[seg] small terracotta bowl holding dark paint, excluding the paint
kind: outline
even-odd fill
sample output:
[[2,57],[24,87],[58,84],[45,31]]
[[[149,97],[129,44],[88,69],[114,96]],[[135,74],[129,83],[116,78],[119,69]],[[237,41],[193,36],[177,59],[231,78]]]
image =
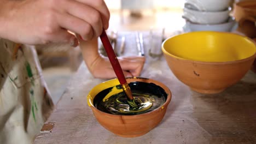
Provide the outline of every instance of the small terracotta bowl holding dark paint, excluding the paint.
[[[104,89],[115,87],[120,85],[117,79],[109,80],[99,85],[95,86],[91,89],[90,93],[88,94],[88,105],[91,107],[94,116],[96,117],[97,121],[107,130],[111,131],[114,134],[123,137],[136,137],[141,136],[148,133],[150,130],[155,128],[162,120],[166,113],[166,109],[168,104],[171,101],[171,91],[161,82],[152,80],[152,79],[145,79],[141,77],[132,77],[126,78],[127,82],[146,82],[146,83],[154,83],[157,86],[160,86],[164,91],[166,97],[165,103],[158,107],[157,109],[142,113],[138,115],[113,115],[103,111],[96,109],[94,105],[94,98],[95,96],[103,91]],[[155,89],[152,87],[144,87],[146,89],[152,89],[152,91],[159,91],[159,89]],[[110,95],[117,94],[123,91],[122,89],[112,89],[109,93]],[[133,89],[131,89],[133,91]],[[147,90],[148,91],[148,90]]]

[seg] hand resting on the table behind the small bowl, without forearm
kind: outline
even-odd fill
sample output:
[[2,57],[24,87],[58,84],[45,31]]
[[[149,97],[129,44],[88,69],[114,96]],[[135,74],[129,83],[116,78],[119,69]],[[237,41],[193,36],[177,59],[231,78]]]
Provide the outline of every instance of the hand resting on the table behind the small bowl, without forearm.
[[[123,69],[125,77],[139,76],[145,63],[145,57],[119,57],[118,61]],[[95,61],[88,64],[88,68],[91,74],[96,78],[112,79],[117,77],[107,57],[96,57]]]

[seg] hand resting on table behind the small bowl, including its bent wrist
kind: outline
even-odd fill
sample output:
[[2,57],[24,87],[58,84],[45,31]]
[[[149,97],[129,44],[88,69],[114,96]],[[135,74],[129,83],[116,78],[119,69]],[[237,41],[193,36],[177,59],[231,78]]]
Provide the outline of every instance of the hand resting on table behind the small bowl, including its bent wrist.
[[[98,53],[96,38],[90,41],[79,39],[79,42],[85,64],[94,77],[101,79],[117,77],[108,57],[103,57]],[[142,56],[119,57],[118,60],[126,77],[139,76],[145,63],[145,57]]]

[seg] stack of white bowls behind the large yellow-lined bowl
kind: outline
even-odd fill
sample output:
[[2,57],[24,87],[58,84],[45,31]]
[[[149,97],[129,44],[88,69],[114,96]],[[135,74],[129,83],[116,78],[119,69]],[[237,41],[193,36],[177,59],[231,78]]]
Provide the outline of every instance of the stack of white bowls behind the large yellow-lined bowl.
[[236,22],[230,17],[230,4],[231,0],[186,0],[184,31],[232,31]]

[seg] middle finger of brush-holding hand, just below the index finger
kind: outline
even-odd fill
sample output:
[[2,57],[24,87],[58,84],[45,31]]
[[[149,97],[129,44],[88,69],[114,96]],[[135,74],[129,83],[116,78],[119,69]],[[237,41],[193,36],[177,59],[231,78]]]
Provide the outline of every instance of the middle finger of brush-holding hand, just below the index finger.
[[94,29],[93,37],[100,36],[103,26],[99,11],[77,1],[70,1],[66,9],[69,14],[88,22],[92,26]]

